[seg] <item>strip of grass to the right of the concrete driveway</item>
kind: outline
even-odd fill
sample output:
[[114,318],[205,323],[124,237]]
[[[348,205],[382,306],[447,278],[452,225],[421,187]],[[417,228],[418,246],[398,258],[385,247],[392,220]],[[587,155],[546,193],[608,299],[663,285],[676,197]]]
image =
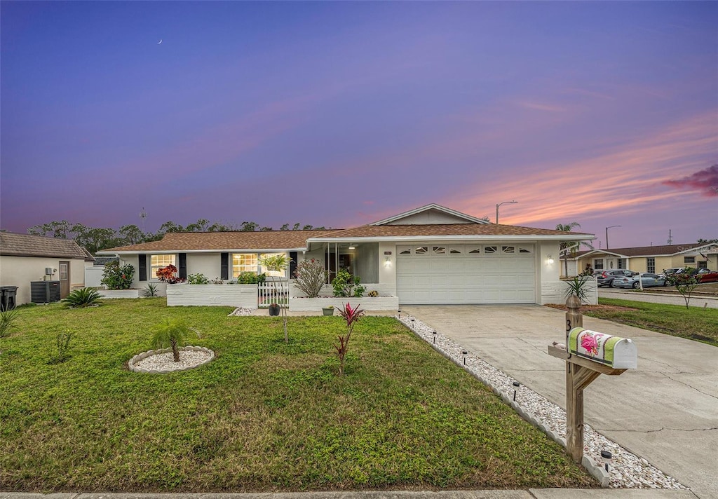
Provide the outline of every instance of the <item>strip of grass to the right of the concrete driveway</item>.
[[631,302],[622,299],[600,298],[599,304],[612,305],[602,309],[582,309],[584,315],[612,320],[621,324],[642,327],[689,340],[718,346],[718,309]]

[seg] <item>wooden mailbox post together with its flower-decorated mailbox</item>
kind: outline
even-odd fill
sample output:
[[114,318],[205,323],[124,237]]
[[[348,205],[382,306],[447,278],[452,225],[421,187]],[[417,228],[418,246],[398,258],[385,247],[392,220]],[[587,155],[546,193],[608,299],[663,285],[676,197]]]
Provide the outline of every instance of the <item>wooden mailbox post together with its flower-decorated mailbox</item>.
[[618,376],[638,366],[635,343],[574,327],[564,348],[549,345],[549,355],[566,361],[566,450],[580,463],[584,447],[583,392],[602,374]]

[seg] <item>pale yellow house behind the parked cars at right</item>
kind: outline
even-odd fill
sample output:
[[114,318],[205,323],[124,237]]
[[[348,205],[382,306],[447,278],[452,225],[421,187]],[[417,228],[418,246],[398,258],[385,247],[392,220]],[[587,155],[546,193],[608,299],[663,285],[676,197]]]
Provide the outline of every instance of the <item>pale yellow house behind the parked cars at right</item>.
[[[571,266],[573,264],[573,267]],[[628,269],[660,274],[672,267],[718,269],[718,244],[669,244],[638,248],[612,248],[580,251],[569,257],[569,269],[583,270],[589,264],[594,270]]]

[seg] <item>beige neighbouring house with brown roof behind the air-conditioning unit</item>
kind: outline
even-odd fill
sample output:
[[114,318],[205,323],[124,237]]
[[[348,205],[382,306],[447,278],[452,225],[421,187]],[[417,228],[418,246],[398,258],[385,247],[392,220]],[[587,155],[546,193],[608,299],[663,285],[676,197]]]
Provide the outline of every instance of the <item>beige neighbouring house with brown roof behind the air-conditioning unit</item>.
[[31,281],[60,281],[60,297],[67,297],[85,286],[85,266],[93,261],[71,239],[0,232],[0,285],[17,286],[19,305],[30,302]]

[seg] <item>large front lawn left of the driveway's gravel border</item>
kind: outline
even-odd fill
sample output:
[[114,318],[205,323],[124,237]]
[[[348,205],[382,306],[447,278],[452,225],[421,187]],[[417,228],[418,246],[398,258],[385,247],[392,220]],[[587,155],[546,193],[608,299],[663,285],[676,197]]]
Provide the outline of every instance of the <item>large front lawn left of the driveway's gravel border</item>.
[[[21,307],[0,343],[0,490],[223,492],[595,487],[564,450],[390,317],[365,317],[346,374],[340,317],[226,317],[164,299]],[[149,326],[215,350],[131,373]],[[70,358],[51,363],[58,333]]]

